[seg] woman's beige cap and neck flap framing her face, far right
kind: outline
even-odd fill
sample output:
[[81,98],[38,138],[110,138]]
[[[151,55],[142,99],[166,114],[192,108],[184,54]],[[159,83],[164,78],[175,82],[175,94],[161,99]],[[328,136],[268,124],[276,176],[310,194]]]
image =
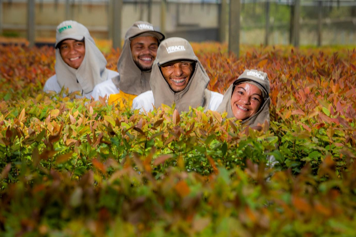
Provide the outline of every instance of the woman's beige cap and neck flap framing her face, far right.
[[234,92],[235,86],[240,83],[250,83],[256,85],[262,91],[263,104],[260,107],[260,110],[256,114],[242,121],[245,125],[250,125],[251,127],[256,126],[258,123],[262,124],[267,120],[269,124],[269,80],[267,73],[258,71],[258,70],[249,70],[246,69],[235,81],[232,83],[229,88],[225,91],[223,101],[219,105],[218,112],[227,112],[227,118],[234,118],[234,114],[231,109],[231,96]]

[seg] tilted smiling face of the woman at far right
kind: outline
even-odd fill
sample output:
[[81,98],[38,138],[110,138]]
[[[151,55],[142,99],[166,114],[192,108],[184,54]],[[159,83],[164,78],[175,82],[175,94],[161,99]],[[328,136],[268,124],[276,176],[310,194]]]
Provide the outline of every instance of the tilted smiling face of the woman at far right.
[[256,114],[262,103],[262,91],[255,85],[236,85],[231,96],[232,113],[237,119],[245,120]]

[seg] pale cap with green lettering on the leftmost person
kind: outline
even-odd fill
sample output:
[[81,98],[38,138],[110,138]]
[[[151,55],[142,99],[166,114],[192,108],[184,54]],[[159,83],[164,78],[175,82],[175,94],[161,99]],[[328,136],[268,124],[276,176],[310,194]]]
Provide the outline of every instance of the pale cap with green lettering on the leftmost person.
[[86,35],[90,35],[87,27],[76,21],[63,21],[57,26],[56,44],[54,47],[57,48],[58,43],[64,39],[83,40]]

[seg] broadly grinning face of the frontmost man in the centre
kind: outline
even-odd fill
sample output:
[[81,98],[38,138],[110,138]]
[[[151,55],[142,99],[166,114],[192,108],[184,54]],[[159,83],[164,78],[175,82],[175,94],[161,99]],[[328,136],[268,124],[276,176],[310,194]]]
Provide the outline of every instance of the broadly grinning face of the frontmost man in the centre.
[[171,62],[162,66],[161,72],[171,90],[179,92],[187,87],[190,77],[192,77],[193,63]]

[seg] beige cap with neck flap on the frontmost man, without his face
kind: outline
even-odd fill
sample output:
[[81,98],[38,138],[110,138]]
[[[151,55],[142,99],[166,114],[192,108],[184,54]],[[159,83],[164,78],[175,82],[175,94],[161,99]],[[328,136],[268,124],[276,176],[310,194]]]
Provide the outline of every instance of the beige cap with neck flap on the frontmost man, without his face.
[[[187,87],[174,93],[164,79],[159,65],[180,59],[195,61],[196,65]],[[181,112],[188,111],[189,106],[192,106],[192,108],[206,106],[209,103],[207,98],[210,99],[210,93],[207,93],[208,90],[206,89],[209,81],[208,74],[206,74],[203,65],[195,56],[192,46],[186,39],[172,37],[162,41],[158,47],[156,60],[153,62],[150,80],[155,107],[159,107],[161,104],[171,106],[175,102],[176,109]]]

